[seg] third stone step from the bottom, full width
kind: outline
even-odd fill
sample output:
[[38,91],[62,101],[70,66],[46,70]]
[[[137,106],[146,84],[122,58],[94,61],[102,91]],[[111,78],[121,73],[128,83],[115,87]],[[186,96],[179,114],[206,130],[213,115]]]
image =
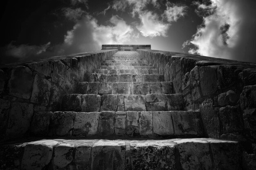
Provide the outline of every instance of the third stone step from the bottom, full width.
[[170,111],[183,110],[181,94],[148,95],[81,95],[65,94],[62,97],[62,111]]

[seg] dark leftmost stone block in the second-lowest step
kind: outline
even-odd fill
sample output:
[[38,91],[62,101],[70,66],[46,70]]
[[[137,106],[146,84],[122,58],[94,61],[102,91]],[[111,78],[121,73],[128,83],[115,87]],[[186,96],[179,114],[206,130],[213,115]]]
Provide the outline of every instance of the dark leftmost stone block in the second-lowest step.
[[52,115],[52,112],[34,112],[30,132],[33,135],[47,135]]

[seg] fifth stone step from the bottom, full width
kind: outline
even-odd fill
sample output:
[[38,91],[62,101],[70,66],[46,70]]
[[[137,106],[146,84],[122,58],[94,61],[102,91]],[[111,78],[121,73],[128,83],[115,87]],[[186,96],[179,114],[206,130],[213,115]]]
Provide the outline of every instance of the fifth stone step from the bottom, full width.
[[91,73],[86,82],[164,82],[163,74],[100,74]]

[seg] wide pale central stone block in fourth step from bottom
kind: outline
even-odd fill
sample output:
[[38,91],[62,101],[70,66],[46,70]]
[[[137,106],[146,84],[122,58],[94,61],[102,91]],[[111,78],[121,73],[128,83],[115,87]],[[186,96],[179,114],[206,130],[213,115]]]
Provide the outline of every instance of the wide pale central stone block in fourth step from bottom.
[[131,83],[117,82],[113,83],[112,94],[114,95],[130,95]]

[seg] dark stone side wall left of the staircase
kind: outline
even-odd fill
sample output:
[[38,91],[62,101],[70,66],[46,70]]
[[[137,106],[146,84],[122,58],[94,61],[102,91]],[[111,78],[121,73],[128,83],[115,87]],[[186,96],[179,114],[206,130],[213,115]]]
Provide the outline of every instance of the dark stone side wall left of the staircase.
[[0,66],[0,136],[25,135],[34,113],[58,111],[62,95],[74,93],[101,62],[118,50],[56,56]]

